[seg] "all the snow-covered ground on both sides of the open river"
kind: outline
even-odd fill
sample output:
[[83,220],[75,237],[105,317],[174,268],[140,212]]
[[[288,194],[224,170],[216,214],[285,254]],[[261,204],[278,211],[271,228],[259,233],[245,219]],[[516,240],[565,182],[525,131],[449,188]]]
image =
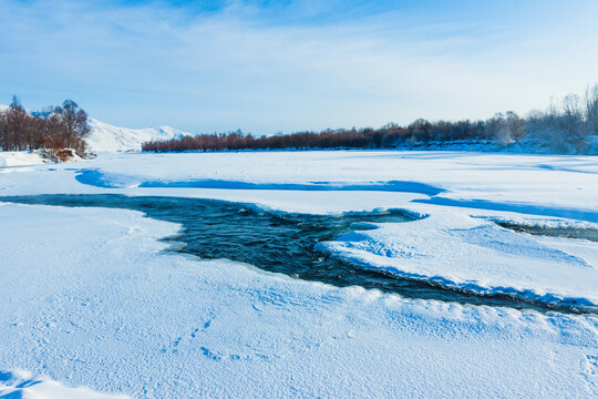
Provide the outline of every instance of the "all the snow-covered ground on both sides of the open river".
[[[348,233],[319,249],[446,287],[598,306],[597,242],[495,223],[597,228],[591,156],[17,157],[0,164],[1,196],[203,197],[320,214],[406,209],[422,218]],[[3,203],[0,221],[0,397],[85,397],[87,389],[152,398],[598,395],[596,315],[412,300],[200,260],[164,250],[159,238],[179,225],[133,211]]]

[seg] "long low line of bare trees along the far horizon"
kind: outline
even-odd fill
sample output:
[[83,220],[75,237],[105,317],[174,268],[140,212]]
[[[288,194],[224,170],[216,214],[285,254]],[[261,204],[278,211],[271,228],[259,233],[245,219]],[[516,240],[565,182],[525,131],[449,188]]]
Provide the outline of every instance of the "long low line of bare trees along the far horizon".
[[406,126],[389,123],[380,129],[338,129],[254,136],[240,130],[198,134],[171,141],[144,143],[142,151],[234,151],[290,149],[395,149],[417,144],[484,142],[512,145],[523,141],[558,152],[585,152],[591,135],[598,135],[598,84],[585,95],[567,95],[560,105],[530,112],[526,117],[508,111],[485,121],[426,121]]

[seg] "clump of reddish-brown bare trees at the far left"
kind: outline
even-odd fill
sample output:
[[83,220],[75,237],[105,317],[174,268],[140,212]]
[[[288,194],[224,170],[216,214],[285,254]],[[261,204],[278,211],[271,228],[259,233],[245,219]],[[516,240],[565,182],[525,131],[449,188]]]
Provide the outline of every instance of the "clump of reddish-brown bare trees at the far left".
[[87,114],[72,100],[29,113],[13,96],[10,108],[0,111],[2,151],[73,149],[83,153],[89,133]]

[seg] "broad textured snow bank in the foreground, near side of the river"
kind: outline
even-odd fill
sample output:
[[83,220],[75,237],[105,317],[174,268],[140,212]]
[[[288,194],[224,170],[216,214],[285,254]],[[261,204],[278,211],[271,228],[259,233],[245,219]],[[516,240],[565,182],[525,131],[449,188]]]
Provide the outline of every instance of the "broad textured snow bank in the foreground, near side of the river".
[[595,317],[168,255],[156,238],[179,226],[136,212],[6,204],[0,219],[0,370],[148,398],[598,393]]

